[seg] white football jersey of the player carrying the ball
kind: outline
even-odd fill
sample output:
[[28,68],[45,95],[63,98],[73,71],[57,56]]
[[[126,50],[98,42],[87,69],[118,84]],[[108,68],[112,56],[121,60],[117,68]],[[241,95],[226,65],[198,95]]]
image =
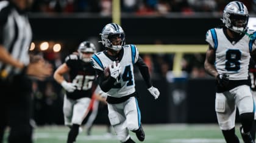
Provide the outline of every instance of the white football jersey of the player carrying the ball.
[[[138,60],[138,49],[135,45],[124,45],[123,48],[124,55],[121,61],[119,61],[121,66],[119,80],[107,92],[108,96],[115,98],[121,98],[135,92],[133,64]],[[104,71],[105,67],[113,63],[103,52],[94,54],[91,59],[93,67],[101,71]]]

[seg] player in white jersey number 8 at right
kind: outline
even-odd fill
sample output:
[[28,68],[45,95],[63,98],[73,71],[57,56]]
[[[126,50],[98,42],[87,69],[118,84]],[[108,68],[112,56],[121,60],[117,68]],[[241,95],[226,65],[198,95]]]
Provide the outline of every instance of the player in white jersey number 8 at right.
[[256,58],[256,33],[247,29],[248,18],[242,2],[229,2],[223,12],[224,26],[212,28],[206,34],[209,48],[204,66],[216,78],[215,111],[227,143],[239,142],[235,135],[236,107],[240,113],[243,141],[254,142],[249,132],[254,121],[254,101],[248,67],[251,56]]

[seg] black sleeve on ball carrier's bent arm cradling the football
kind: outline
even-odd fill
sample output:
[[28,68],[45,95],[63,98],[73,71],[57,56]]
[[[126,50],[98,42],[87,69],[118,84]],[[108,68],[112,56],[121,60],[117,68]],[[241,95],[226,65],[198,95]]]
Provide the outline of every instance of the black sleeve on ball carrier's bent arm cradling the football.
[[104,71],[98,69],[96,69],[96,73],[98,75],[97,79],[99,87],[101,87],[101,90],[104,92],[109,91],[113,87],[113,84],[115,83],[116,79],[112,78],[112,76],[105,78]]

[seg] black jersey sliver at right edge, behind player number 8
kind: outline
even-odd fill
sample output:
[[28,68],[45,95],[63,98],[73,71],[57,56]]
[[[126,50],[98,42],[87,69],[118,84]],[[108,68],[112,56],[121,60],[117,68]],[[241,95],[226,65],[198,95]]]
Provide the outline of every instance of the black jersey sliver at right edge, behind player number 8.
[[256,91],[256,62],[252,59],[249,64],[249,77],[251,79],[251,88]]

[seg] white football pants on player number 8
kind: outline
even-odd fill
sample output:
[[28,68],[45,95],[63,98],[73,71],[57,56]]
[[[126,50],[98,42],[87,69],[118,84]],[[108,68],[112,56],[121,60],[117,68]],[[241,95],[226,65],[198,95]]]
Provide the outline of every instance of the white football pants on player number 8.
[[216,93],[215,111],[221,130],[235,127],[236,107],[240,115],[254,111],[254,101],[248,85],[241,85],[224,93]]

